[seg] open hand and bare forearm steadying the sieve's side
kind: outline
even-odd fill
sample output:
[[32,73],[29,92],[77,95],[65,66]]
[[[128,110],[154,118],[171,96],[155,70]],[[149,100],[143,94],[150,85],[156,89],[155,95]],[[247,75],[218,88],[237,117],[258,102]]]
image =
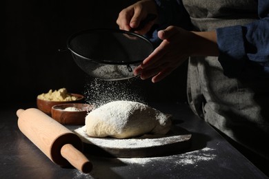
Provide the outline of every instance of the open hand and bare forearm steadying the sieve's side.
[[134,74],[140,74],[141,79],[153,76],[153,83],[168,76],[188,56],[219,54],[215,32],[190,32],[169,26],[166,30],[160,30],[158,36],[162,43],[134,70]]

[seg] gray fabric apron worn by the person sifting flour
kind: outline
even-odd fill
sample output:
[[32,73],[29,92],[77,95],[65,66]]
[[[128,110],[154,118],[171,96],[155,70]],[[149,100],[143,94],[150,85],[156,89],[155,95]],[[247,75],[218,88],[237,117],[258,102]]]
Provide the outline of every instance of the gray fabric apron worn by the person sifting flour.
[[[257,19],[255,0],[182,0],[195,30],[209,31]],[[221,17],[221,18],[218,18]],[[251,66],[250,66],[251,69]],[[242,72],[223,75],[217,57],[190,58],[188,101],[192,111],[238,143],[269,159],[269,81]]]

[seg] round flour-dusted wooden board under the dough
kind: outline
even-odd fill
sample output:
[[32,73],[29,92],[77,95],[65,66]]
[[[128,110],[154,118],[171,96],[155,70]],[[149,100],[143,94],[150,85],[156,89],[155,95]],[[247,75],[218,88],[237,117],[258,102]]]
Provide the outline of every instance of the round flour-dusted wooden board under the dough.
[[74,129],[83,141],[84,152],[98,156],[121,158],[166,156],[179,154],[191,145],[192,134],[182,127],[172,127],[166,135],[143,135],[139,138],[92,138],[85,127]]

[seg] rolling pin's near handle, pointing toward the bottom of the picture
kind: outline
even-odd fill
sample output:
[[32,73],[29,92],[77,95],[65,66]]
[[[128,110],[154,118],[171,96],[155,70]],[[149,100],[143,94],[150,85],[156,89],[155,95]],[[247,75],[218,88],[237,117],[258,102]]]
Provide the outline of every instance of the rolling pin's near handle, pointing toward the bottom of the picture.
[[66,158],[73,167],[83,173],[90,173],[90,171],[92,171],[92,162],[71,144],[66,144],[61,147],[61,156]]

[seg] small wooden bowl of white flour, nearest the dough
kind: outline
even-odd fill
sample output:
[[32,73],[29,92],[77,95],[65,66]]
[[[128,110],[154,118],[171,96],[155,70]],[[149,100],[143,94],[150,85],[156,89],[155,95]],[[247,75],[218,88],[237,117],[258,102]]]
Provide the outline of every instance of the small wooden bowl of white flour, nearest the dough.
[[[72,107],[77,109],[68,109]],[[52,106],[52,118],[63,125],[85,125],[85,118],[88,112],[93,109],[92,105],[83,103],[66,103]]]

